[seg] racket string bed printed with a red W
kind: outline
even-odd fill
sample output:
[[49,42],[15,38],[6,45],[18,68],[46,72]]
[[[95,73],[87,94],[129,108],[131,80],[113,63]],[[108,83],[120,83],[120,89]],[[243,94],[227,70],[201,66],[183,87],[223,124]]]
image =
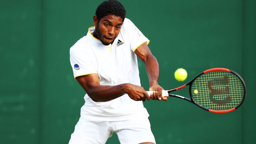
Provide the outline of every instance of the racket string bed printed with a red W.
[[[194,91],[197,90],[197,93]],[[233,73],[212,71],[199,76],[191,85],[193,100],[211,110],[230,110],[243,100],[243,83]]]

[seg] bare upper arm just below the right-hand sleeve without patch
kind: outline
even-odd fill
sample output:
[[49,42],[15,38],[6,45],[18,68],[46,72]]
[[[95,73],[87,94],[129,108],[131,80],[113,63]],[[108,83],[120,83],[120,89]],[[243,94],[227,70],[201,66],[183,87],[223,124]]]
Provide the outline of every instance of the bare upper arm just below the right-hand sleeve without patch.
[[147,58],[152,55],[147,42],[141,44],[134,53],[143,61],[147,61]]

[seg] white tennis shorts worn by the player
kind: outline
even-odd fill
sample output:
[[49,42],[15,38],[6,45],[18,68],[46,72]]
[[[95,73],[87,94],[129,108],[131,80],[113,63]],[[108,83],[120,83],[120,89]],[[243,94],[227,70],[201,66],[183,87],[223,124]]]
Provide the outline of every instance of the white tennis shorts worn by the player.
[[155,142],[147,117],[126,121],[94,121],[80,119],[69,144],[105,144],[115,132],[121,144]]

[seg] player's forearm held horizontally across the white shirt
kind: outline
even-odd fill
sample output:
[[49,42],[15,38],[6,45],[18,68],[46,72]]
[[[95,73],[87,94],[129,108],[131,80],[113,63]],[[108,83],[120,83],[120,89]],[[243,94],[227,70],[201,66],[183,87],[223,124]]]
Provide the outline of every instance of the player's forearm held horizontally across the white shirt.
[[97,85],[87,92],[89,97],[95,102],[106,102],[116,99],[128,92],[129,84],[116,86]]

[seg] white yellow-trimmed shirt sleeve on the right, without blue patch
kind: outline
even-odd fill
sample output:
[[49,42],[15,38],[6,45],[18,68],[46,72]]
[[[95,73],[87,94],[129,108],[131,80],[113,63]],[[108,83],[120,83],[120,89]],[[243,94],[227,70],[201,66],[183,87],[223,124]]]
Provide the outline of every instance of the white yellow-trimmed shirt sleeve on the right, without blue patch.
[[131,50],[134,52],[140,45],[147,42],[150,42],[148,38],[146,38],[142,32],[133,24],[133,22],[127,18],[125,18],[124,24],[124,32],[129,40]]

